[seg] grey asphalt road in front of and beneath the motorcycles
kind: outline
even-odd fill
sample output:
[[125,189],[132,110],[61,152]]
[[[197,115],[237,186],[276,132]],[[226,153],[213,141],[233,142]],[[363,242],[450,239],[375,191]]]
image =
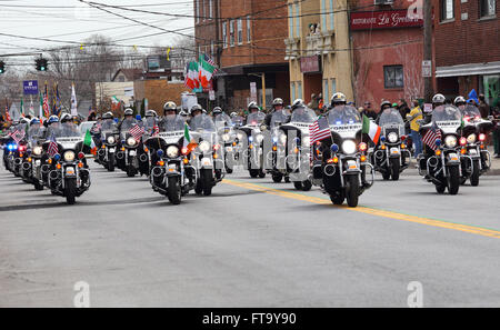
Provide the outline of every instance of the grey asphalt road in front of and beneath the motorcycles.
[[67,206],[0,169],[0,307],[500,307],[500,177],[438,196],[414,170],[357,209],[318,188],[228,176],[171,206],[92,164]]

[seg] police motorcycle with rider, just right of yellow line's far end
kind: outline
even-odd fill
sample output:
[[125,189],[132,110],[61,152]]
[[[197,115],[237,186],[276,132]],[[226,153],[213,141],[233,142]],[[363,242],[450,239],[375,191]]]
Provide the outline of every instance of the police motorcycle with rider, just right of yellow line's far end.
[[241,156],[247,164],[251,178],[264,178],[263,131],[267,130],[263,121],[266,114],[259,110],[256,102],[249,104],[249,111],[257,110],[247,116],[247,122],[237,133],[241,142]]

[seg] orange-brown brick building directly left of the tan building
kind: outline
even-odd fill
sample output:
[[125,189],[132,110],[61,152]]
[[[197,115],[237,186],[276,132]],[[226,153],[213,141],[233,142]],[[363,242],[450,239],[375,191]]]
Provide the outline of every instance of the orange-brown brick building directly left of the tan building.
[[[273,98],[289,99],[289,70],[284,60],[287,0],[194,0],[194,31],[199,53],[211,54],[220,71],[213,80],[218,103],[246,108],[250,100],[266,106]],[[256,82],[257,94],[250,94]],[[203,103],[203,96],[199,94]],[[204,94],[204,106],[207,94]]]

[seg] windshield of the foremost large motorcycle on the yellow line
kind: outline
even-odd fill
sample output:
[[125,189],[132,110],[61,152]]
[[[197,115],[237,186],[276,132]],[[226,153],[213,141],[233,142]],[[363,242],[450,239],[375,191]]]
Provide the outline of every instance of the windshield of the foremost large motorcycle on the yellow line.
[[337,106],[327,114],[330,129],[341,138],[354,138],[356,133],[361,130],[361,116],[354,107]]

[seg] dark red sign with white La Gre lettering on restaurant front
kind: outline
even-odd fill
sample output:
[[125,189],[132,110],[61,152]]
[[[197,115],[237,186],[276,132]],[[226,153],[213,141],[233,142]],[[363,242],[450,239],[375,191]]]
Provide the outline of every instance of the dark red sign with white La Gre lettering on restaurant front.
[[403,10],[358,11],[351,12],[351,30],[416,28],[423,26],[423,19]]

